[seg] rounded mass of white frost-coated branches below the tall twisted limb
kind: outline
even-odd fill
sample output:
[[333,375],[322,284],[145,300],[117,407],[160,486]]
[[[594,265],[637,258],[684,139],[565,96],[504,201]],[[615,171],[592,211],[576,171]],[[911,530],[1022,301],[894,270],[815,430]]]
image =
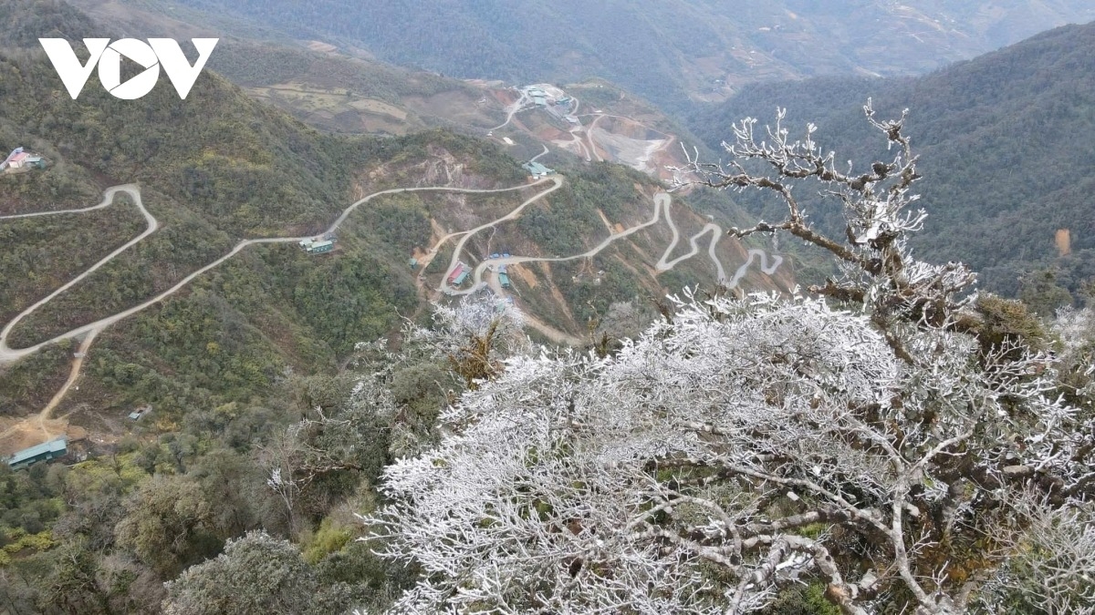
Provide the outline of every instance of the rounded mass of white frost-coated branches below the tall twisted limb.
[[512,359],[445,417],[456,436],[385,473],[380,533],[426,571],[399,608],[748,612],[819,575],[849,612],[899,587],[960,612],[970,564],[923,552],[1011,527],[977,509],[1006,504],[1015,468],[1071,477],[1071,411],[1040,357],[979,370],[937,329],[908,346],[931,360],[821,300],[756,295],[685,300],[614,359]]

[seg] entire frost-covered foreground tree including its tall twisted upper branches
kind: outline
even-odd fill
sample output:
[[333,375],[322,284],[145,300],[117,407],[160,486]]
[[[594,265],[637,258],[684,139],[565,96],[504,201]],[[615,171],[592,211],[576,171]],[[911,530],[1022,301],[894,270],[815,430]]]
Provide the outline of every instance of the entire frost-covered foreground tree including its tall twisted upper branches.
[[[791,233],[839,277],[685,292],[614,357],[518,353],[385,471],[367,521],[423,570],[396,612],[747,613],[806,584],[849,614],[1095,607],[1093,413],[1056,357],[982,335],[968,269],[909,253],[917,160],[866,112],[896,152],[864,172],[812,128],[758,142],[749,119],[736,162],[690,169],[779,195],[785,220],[733,232]],[[809,224],[806,181],[843,202],[845,237]]]

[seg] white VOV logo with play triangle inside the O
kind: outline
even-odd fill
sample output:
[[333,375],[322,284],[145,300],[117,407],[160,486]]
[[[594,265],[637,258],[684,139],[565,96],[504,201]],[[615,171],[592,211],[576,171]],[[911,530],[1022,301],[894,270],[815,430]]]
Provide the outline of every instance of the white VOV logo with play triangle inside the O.
[[[198,59],[194,66],[191,66],[189,60],[183,55],[183,49],[173,38],[149,38],[148,43],[136,38],[122,38],[114,43],[111,43],[110,38],[84,38],[83,44],[91,54],[87,65],[80,63],[72,46],[64,38],[39,38],[38,43],[42,43],[42,48],[46,50],[57,76],[61,78],[73,101],[88,83],[96,63],[99,80],[116,98],[134,101],[151,92],[160,79],[162,66],[168,72],[171,84],[178,92],[178,97],[185,101],[218,40],[220,38],[191,39],[198,50]],[[140,74],[125,83],[122,83],[122,56],[145,67]]]

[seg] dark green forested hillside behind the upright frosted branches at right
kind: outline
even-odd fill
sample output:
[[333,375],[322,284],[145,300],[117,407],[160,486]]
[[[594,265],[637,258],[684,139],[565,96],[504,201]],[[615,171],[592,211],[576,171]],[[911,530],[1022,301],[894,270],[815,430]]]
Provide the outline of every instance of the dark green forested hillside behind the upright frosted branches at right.
[[[913,245],[934,260],[963,260],[982,288],[1019,292],[1025,272],[1051,268],[1049,286],[1079,291],[1095,277],[1095,24],[1061,27],[1001,51],[914,79],[818,79],[746,89],[699,113],[692,127],[717,147],[745,117],[787,108],[784,126],[840,151],[864,142],[862,105],[880,116],[909,109],[922,152],[925,232]],[[799,195],[803,198],[810,194]],[[757,204],[756,212],[773,217]],[[815,220],[842,225],[839,210]],[[1039,279],[1045,283],[1045,279]],[[1027,283],[1035,283],[1028,280]],[[1044,289],[1045,290],[1045,289]]]

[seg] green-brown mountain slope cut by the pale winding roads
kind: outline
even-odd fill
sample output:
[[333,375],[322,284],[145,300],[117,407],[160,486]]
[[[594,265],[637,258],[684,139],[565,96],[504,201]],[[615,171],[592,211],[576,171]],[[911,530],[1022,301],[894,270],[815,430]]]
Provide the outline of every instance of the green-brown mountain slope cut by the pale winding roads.
[[[64,3],[38,4],[60,8],[57,14],[65,18],[38,22],[46,28],[41,32],[99,31]],[[33,16],[35,7],[15,9]],[[545,187],[531,186],[500,146],[443,130],[397,138],[321,132],[211,70],[186,101],[165,79],[138,101],[114,98],[93,80],[72,101],[33,45],[0,51],[0,147],[16,146],[44,154],[49,164],[0,174],[0,217],[87,208],[102,200],[107,186],[136,183],[159,229],[21,320],[7,339],[13,349],[141,305],[230,254],[241,240],[284,241],[241,248],[162,302],[99,332],[82,362],[79,393],[73,388],[55,410],[95,432],[125,431],[120,417],[143,404],[154,405],[163,421],[158,429],[164,430],[195,408],[238,404],[258,411],[277,404],[268,395],[286,374],[333,373],[356,343],[384,336],[401,315],[415,316],[429,301],[445,300],[437,288],[453,240],[442,245],[442,235],[491,222]],[[462,258],[479,265],[497,247],[530,258],[573,256],[655,211],[658,187],[646,175],[573,160],[557,167],[564,175],[557,192],[496,233],[476,233]],[[362,197],[401,187],[454,190],[378,197],[338,228],[331,254],[290,245],[291,237],[322,233]],[[511,190],[473,193],[496,188]],[[688,237],[710,222],[676,202],[673,219],[684,236],[668,255],[673,259],[687,254]],[[145,231],[135,202],[120,196],[88,213],[0,220],[0,279],[13,280],[0,288],[0,327]],[[507,245],[492,243],[503,240]],[[583,336],[588,318],[613,302],[715,281],[706,252],[672,270],[658,269],[670,241],[662,222],[593,258],[519,265],[512,292],[545,327]],[[431,248],[437,265],[419,276],[408,258]],[[747,260],[737,242],[721,241],[717,254],[731,274]],[[753,266],[744,283],[784,287],[785,271],[769,278]],[[76,348],[62,346],[59,355],[0,365],[0,414],[8,417],[0,417],[3,452],[18,449],[5,440],[12,417],[41,410],[65,381],[69,365],[59,359],[71,360],[67,351]],[[35,370],[42,378],[28,379]],[[32,436],[42,433],[35,429]]]

